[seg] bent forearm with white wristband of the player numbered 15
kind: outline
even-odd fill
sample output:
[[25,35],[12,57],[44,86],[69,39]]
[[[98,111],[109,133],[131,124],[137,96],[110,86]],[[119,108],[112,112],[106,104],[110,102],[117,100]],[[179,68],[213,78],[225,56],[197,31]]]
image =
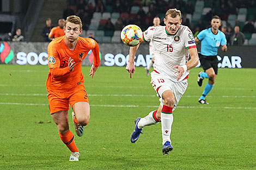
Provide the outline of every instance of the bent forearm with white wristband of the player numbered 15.
[[199,58],[198,58],[198,53],[197,53],[197,48],[191,48],[188,49],[188,53],[190,53],[190,60],[183,66],[173,66],[173,68],[177,68],[177,70],[175,71],[175,73],[177,74],[177,81],[181,78],[182,74],[184,72],[186,72],[187,70],[190,70],[191,68],[194,68],[197,66],[198,62],[199,62]]

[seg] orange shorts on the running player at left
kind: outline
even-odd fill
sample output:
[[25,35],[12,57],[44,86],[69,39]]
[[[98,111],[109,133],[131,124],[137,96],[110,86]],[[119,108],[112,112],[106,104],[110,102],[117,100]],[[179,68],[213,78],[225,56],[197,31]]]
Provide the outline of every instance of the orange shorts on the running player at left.
[[69,104],[71,108],[77,102],[87,102],[88,95],[86,90],[73,90],[66,92],[52,92],[48,91],[48,104],[50,109],[50,114],[54,114],[58,111],[69,110]]

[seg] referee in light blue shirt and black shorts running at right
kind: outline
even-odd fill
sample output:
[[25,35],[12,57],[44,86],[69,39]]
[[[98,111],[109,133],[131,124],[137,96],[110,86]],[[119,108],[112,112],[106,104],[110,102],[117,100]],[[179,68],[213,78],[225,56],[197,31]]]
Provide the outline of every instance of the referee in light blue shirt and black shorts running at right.
[[204,29],[200,32],[194,41],[201,42],[201,54],[199,54],[201,65],[204,72],[199,72],[197,83],[202,86],[203,79],[208,78],[208,84],[204,87],[204,92],[199,98],[198,103],[209,104],[205,101],[206,95],[211,91],[215,83],[215,78],[218,73],[217,52],[218,47],[221,46],[223,52],[227,51],[227,39],[225,34],[218,28],[221,26],[221,18],[217,15],[211,19],[211,28]]

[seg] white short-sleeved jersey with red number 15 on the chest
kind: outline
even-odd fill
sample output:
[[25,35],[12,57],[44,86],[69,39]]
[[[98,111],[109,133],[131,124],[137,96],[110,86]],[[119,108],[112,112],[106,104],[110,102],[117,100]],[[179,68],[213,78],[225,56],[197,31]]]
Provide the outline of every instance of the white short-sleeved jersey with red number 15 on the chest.
[[[189,55],[187,49],[196,48],[194,37],[187,26],[180,25],[175,35],[170,35],[165,26],[149,27],[143,33],[144,41],[152,41],[154,47],[154,70],[166,75],[170,80],[177,82],[173,66],[185,65]],[[190,71],[182,74],[179,81],[184,80]]]

